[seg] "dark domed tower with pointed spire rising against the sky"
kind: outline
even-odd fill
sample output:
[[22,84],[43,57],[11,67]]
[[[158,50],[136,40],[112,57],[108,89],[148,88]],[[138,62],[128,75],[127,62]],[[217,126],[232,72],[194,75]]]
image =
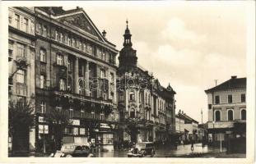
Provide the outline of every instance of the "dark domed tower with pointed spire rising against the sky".
[[132,34],[128,29],[128,21],[126,21],[126,30],[123,34],[123,48],[119,52],[119,72],[127,72],[137,68],[136,50],[132,48]]

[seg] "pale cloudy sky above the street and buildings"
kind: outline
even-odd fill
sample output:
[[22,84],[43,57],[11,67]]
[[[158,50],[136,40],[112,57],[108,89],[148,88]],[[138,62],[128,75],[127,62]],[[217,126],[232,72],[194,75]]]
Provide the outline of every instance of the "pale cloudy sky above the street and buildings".
[[118,50],[128,19],[138,65],[163,86],[170,83],[177,93],[176,112],[200,123],[201,109],[207,121],[204,90],[231,75],[246,76],[246,7],[239,2],[84,2],[79,7]]

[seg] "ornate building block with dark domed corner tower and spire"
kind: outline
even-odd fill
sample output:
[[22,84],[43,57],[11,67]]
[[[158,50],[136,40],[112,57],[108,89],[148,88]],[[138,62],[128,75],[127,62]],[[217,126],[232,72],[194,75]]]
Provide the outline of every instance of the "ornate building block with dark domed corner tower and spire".
[[165,89],[147,70],[137,66],[128,25],[123,37],[117,85],[120,139],[132,142],[165,140],[175,124],[174,116],[170,116],[175,112],[175,91],[170,86]]

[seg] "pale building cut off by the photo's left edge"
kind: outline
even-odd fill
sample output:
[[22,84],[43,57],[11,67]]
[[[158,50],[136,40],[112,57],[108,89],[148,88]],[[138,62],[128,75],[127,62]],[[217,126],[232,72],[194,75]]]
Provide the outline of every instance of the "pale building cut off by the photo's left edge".
[[[8,8],[9,101],[30,103],[35,111],[35,17],[33,7]],[[35,127],[21,128],[17,151],[35,148]],[[16,144],[13,144],[15,146]],[[9,136],[12,148],[12,136]]]

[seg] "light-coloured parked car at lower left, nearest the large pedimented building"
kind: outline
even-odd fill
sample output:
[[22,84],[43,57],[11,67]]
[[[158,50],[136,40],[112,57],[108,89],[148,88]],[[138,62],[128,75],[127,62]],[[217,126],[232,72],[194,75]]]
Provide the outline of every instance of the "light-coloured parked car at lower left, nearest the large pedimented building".
[[63,144],[54,157],[95,157],[89,144]]

